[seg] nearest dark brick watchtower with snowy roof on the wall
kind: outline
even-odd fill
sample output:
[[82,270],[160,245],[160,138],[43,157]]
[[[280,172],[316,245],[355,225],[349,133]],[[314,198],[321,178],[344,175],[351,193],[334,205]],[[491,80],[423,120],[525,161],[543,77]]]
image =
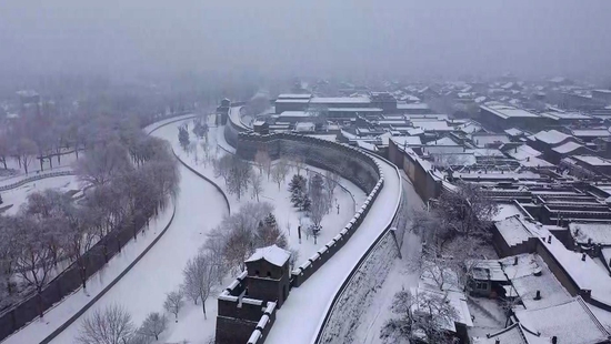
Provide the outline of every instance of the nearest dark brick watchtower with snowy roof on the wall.
[[246,261],[249,297],[276,302],[280,308],[289,296],[290,256],[277,245],[257,249]]

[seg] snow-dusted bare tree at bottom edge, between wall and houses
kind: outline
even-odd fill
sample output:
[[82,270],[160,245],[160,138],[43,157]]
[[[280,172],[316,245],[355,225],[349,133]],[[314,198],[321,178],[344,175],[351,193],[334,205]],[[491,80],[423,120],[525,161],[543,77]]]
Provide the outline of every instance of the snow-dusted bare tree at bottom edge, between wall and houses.
[[453,324],[458,313],[448,302],[447,294],[401,291],[394,295],[391,311],[399,317],[387,321],[381,330],[380,338],[387,343],[397,343],[401,338],[424,343],[453,343],[443,325]]

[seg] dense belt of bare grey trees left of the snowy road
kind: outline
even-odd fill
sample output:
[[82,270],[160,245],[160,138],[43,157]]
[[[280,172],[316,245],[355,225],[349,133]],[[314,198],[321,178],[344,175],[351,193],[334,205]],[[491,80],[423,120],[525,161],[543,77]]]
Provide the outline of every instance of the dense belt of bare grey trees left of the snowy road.
[[30,194],[16,215],[0,216],[3,306],[32,291],[40,296],[67,267],[64,262],[76,265],[86,289],[87,252],[100,242],[108,262],[109,235],[130,230],[136,239],[140,226],[178,192],[179,172],[169,145],[138,125],[110,132],[89,145],[74,169],[84,186],[79,201],[46,190]]

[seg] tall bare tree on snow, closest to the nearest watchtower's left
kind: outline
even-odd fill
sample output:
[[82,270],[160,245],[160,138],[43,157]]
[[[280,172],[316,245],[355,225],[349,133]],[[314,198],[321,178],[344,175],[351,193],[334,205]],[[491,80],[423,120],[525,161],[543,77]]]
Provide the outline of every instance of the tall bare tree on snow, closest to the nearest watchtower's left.
[[213,286],[218,276],[216,273],[218,270],[212,263],[213,259],[204,253],[199,253],[193,259],[187,262],[187,266],[183,270],[184,275],[184,291],[196,302],[194,296],[198,295],[201,300],[201,306],[203,311],[203,317],[206,314],[206,300],[213,292]]

